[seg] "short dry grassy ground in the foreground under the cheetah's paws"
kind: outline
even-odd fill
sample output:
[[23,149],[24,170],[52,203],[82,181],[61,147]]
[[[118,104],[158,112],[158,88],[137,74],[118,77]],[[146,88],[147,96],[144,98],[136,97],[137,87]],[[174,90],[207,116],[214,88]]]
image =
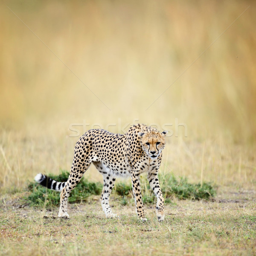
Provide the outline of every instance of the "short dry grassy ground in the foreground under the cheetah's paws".
[[[233,192],[222,197],[231,198]],[[159,223],[151,205],[148,222],[137,220],[135,206],[113,200],[120,219],[106,219],[99,200],[69,205],[70,219],[33,208],[1,207],[0,252],[13,255],[254,255],[255,194],[239,203],[177,201],[166,205]],[[99,196],[98,196],[99,199]]]

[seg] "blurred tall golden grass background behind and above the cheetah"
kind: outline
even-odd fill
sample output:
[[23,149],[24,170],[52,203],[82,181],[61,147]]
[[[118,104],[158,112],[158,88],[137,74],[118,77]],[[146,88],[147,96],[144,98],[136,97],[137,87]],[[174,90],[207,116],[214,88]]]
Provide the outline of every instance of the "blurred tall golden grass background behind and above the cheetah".
[[175,119],[163,171],[255,185],[255,24],[253,1],[2,1],[0,186],[70,169],[70,124]]

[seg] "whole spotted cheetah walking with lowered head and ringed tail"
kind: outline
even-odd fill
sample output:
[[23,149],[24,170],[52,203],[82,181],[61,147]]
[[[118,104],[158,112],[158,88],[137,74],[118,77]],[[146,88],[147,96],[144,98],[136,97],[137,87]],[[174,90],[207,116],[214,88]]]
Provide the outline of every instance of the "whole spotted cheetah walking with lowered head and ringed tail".
[[57,182],[39,173],[35,181],[49,189],[61,192],[58,217],[69,218],[67,199],[79,183],[91,163],[103,175],[104,186],[101,195],[102,209],[107,218],[119,218],[109,206],[109,196],[116,177],[131,177],[137,217],[147,221],[143,209],[140,189],[140,174],[146,172],[151,189],[157,197],[156,214],[158,221],[164,220],[164,199],[157,172],[165,147],[167,131],[160,133],[156,128],[137,124],[126,134],[113,134],[103,129],[85,132],[76,143],[74,158],[67,182]]

